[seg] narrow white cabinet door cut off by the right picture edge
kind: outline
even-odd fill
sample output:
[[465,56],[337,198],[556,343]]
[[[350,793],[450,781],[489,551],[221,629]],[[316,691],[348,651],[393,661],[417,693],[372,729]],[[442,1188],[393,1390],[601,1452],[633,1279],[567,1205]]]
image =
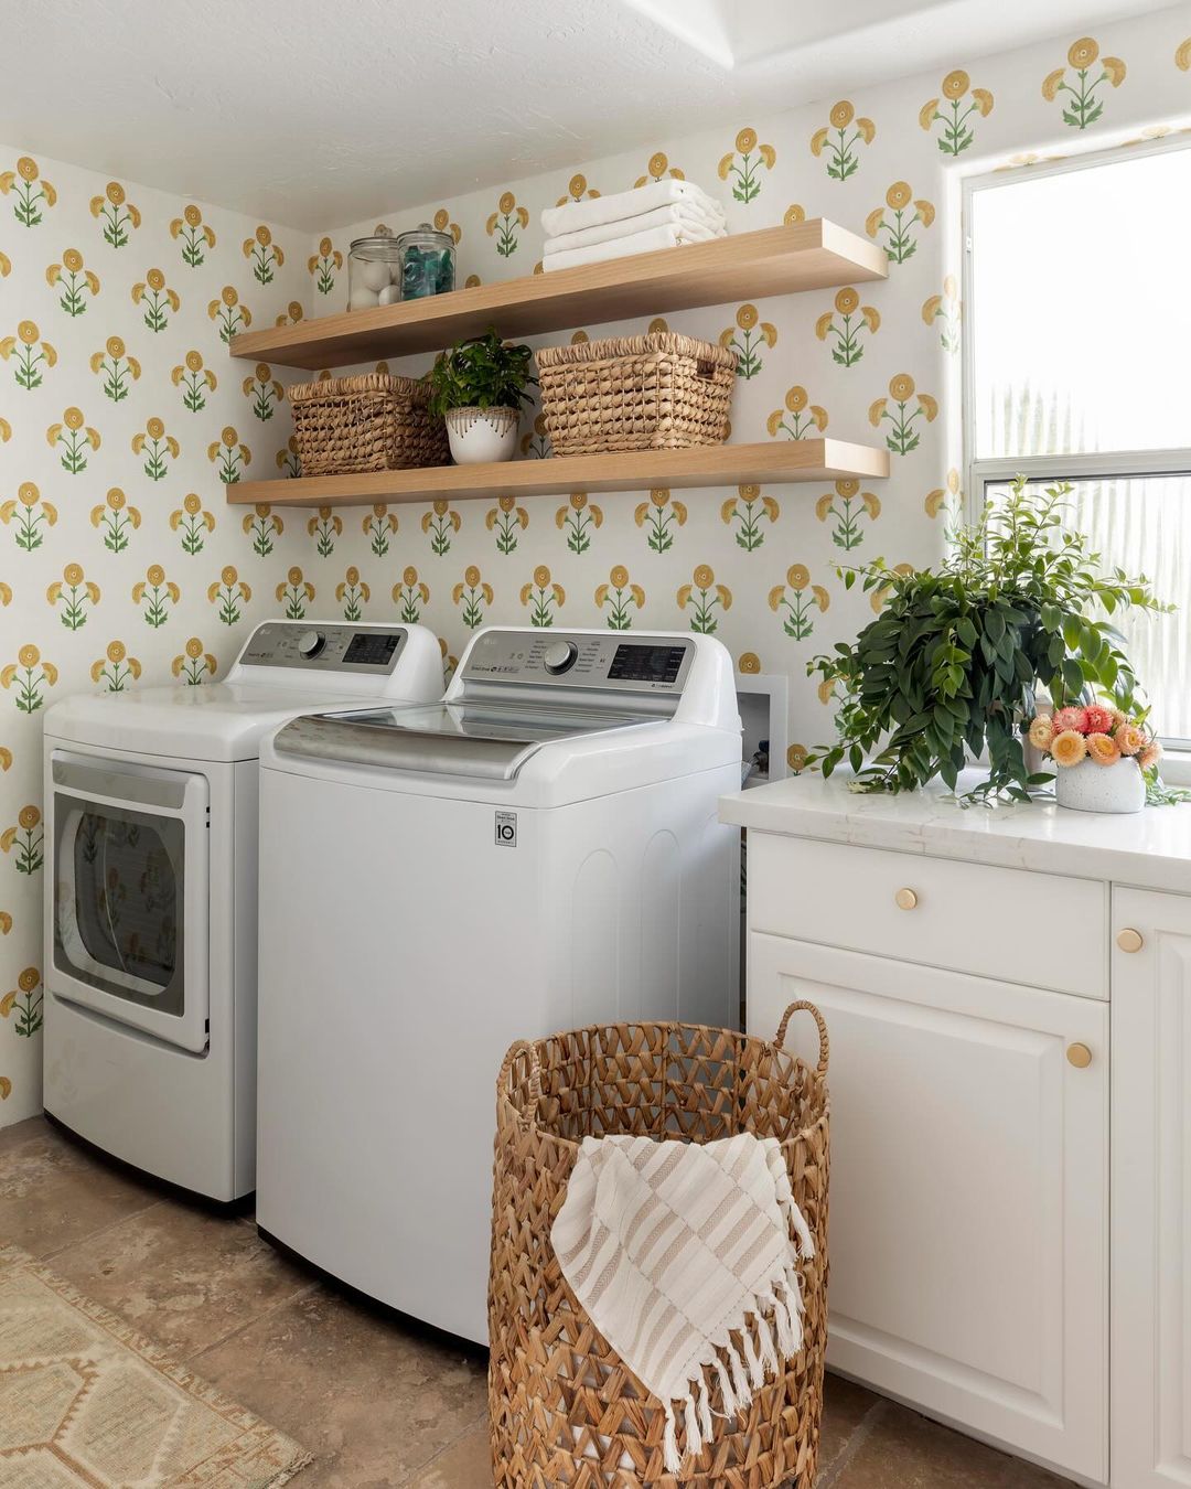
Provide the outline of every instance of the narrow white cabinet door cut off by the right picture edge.
[[1166,1489],[1191,1485],[1191,899],[1115,889],[1112,935],[1112,1483]]

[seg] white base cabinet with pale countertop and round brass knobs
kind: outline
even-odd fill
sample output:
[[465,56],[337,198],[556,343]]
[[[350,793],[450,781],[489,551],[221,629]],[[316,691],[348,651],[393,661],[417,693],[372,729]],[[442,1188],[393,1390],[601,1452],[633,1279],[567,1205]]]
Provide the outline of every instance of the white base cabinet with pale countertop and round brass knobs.
[[721,820],[749,1032],[795,998],[831,1030],[828,1361],[1084,1483],[1191,1489],[1191,807],[801,777]]

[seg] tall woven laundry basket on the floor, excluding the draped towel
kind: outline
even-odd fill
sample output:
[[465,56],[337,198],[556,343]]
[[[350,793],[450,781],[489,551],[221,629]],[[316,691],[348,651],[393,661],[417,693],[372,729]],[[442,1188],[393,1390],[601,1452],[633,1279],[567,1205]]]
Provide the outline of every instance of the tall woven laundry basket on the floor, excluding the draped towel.
[[[819,1026],[819,1065],[782,1048],[791,1015]],[[515,1044],[497,1081],[488,1409],[497,1489],[811,1489],[828,1334],[828,1032],[791,1004],[773,1042],[694,1024],[612,1024]],[[814,1236],[799,1263],[804,1345],[752,1404],[724,1415],[679,1476],[665,1413],[567,1285],[551,1227],[584,1138],[777,1138]]]

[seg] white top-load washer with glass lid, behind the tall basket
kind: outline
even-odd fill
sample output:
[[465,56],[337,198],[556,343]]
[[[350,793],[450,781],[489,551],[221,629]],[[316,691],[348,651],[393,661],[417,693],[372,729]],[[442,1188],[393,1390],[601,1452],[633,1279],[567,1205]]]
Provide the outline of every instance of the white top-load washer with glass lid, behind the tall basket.
[[738,1024],[732,664],[491,628],[441,704],[261,746],[261,1230],[487,1342],[496,1075],[598,1021]]

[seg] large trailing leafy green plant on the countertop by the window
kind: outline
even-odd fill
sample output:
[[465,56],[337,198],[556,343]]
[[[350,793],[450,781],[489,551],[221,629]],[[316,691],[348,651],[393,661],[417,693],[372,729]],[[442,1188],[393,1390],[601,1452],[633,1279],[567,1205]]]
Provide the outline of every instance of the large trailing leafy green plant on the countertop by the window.
[[904,573],[878,558],[841,570],[847,588],[881,591],[884,605],[855,642],[808,664],[840,695],[838,740],[808,764],[829,776],[847,759],[863,791],[913,791],[936,776],[954,791],[969,755],[987,749],[989,779],[971,795],[1029,800],[1051,780],[1030,774],[1020,733],[1038,688],[1056,707],[1103,694],[1145,716],[1112,616],[1173,606],[1145,576],[1103,572],[1064,520],[1070,490],[1018,478],[959,529],[938,569]]

